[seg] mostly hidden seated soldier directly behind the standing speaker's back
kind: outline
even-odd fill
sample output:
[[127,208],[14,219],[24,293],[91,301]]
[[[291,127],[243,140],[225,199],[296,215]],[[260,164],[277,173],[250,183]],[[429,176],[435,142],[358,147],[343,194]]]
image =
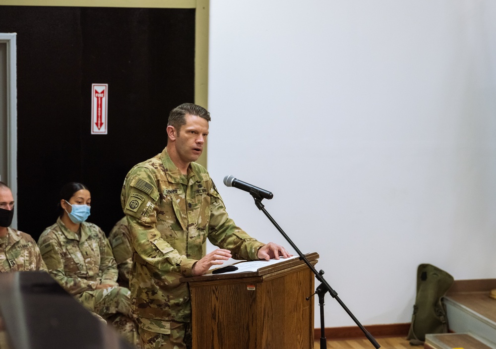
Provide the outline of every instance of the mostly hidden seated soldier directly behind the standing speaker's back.
[[132,265],[131,237],[125,216],[110,231],[109,241],[119,269],[117,281],[122,287],[129,287],[129,271]]

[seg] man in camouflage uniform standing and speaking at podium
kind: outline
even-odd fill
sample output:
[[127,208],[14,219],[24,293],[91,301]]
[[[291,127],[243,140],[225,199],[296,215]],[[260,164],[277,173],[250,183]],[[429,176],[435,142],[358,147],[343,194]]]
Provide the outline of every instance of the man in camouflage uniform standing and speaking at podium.
[[[208,134],[210,113],[185,103],[173,109],[161,154],[134,166],[121,203],[133,246],[131,309],[146,349],[191,346],[191,303],[184,276],[205,274],[224,260],[291,256],[238,228],[207,171],[194,163]],[[206,238],[221,248],[203,255]]]

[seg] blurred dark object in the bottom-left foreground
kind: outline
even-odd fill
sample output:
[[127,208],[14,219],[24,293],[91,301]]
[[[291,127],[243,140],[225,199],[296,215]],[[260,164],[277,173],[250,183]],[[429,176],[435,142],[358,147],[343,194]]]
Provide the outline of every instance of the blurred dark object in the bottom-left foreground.
[[0,325],[10,349],[132,349],[46,272],[0,273]]

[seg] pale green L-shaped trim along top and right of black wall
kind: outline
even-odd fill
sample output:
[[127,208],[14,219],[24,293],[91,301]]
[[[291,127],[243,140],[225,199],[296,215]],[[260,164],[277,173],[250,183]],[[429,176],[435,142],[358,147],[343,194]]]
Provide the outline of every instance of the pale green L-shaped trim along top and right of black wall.
[[[10,6],[196,8],[194,103],[208,109],[208,28],[210,0],[0,0]],[[187,102],[187,101],[185,101]],[[207,166],[207,145],[198,163]]]

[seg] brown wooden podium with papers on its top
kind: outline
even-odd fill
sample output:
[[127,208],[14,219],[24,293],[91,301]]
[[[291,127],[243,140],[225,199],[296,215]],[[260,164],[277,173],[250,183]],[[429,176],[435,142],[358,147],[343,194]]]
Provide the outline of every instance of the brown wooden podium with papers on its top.
[[[318,254],[306,255],[312,265]],[[235,265],[241,266],[244,262]],[[193,349],[313,348],[314,275],[299,257],[256,271],[183,278]]]

